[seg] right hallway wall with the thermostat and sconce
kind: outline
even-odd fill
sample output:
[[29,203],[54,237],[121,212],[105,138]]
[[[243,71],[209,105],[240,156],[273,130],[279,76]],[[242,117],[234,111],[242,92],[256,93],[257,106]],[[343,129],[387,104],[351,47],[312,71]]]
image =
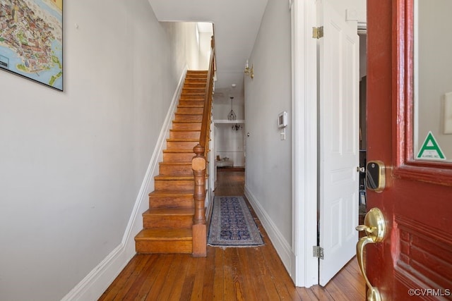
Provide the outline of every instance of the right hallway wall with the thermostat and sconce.
[[254,79],[245,77],[246,192],[292,244],[291,121],[280,140],[278,113],[291,116],[290,11],[287,1],[269,0],[249,58]]

